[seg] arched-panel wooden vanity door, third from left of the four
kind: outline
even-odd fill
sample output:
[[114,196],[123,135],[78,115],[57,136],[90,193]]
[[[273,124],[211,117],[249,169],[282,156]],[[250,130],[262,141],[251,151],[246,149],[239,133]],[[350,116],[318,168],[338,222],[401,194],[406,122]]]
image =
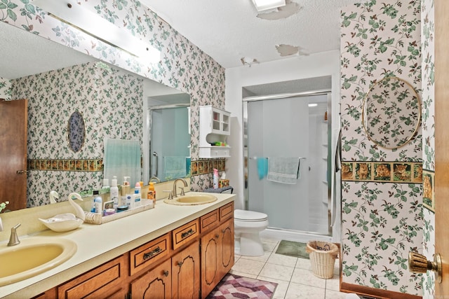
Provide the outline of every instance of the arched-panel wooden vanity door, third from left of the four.
[[220,234],[218,228],[201,237],[201,297],[206,296],[220,282]]

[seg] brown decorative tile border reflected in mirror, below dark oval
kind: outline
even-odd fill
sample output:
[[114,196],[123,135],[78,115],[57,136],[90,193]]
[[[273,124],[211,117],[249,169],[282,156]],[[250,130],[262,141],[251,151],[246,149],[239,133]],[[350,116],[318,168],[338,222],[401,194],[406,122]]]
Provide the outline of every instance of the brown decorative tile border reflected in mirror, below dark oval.
[[29,159],[27,170],[102,172],[103,159]]

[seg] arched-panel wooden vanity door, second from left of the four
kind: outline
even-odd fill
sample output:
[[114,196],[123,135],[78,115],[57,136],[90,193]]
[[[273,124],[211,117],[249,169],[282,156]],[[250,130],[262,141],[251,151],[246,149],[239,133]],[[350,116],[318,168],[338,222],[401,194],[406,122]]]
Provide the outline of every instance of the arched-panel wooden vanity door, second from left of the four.
[[199,298],[199,241],[176,253],[171,260],[173,298]]

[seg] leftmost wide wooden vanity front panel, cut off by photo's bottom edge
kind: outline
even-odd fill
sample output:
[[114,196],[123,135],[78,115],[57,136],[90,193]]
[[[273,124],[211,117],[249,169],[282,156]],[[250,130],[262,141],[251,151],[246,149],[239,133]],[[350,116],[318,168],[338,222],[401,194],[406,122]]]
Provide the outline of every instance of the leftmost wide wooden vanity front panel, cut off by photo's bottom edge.
[[126,257],[120,256],[58,286],[58,298],[123,298]]

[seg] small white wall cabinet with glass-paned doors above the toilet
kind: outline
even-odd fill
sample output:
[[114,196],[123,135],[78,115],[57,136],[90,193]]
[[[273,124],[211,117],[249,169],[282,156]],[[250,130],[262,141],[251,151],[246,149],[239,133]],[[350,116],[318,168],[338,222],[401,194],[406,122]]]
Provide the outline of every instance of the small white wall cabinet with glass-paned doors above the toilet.
[[231,113],[213,106],[199,107],[199,158],[229,158],[229,134]]

